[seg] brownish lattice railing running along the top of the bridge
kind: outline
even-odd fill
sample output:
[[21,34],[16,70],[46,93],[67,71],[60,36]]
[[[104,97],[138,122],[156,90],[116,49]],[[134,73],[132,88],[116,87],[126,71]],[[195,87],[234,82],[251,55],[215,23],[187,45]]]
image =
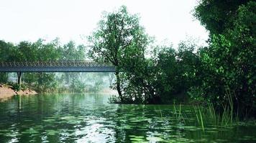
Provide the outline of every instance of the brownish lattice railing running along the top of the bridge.
[[21,66],[112,66],[111,64],[102,64],[95,61],[0,61],[0,67],[21,67]]

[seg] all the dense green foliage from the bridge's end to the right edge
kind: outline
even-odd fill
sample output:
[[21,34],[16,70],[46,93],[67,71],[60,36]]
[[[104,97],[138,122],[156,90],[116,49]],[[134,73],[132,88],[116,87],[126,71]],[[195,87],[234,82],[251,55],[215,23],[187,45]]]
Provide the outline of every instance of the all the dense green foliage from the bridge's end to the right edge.
[[[137,16],[127,14],[122,7],[106,14],[99,30],[89,38],[93,44],[91,57],[110,61],[124,71],[118,75],[120,82],[116,85],[123,93],[119,94],[123,103],[184,102],[191,97],[214,104],[217,112],[232,109],[241,117],[253,115],[256,112],[255,4],[255,1],[199,1],[194,16],[210,31],[209,46],[198,47],[193,41],[182,41],[178,50],[171,46],[150,47],[150,40],[143,39],[135,39],[137,44],[133,44],[135,31],[140,31],[140,37],[148,36],[135,28],[140,27],[138,19],[134,20]],[[129,35],[131,29],[134,32]],[[150,58],[145,57],[147,48],[154,49]],[[106,59],[109,56],[117,61]]]

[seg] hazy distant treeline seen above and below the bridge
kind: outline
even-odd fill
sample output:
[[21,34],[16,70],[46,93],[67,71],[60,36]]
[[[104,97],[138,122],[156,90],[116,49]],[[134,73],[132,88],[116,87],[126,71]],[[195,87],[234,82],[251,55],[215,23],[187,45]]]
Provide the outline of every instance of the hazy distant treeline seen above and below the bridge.
[[[1,61],[84,60],[85,53],[85,46],[76,46],[73,41],[64,45],[60,45],[58,39],[48,43],[42,39],[22,41],[17,45],[0,41]],[[13,75],[0,73],[0,83],[7,83]],[[108,73],[23,73],[22,87],[28,86],[37,92],[96,92],[103,86],[109,87],[109,82],[104,82],[108,76]]]

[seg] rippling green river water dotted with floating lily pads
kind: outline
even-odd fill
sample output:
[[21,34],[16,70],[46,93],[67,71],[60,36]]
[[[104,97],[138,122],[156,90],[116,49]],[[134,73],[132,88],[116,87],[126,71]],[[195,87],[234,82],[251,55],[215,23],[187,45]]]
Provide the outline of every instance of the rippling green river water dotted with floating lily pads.
[[203,131],[172,105],[108,104],[105,94],[14,97],[0,102],[0,142],[256,142],[256,125]]

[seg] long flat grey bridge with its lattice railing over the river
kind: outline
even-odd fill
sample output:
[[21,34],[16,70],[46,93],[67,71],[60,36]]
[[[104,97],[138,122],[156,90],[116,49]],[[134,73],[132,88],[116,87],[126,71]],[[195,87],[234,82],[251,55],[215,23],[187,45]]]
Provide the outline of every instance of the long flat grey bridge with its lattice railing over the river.
[[111,64],[94,61],[0,61],[0,72],[114,72]]

